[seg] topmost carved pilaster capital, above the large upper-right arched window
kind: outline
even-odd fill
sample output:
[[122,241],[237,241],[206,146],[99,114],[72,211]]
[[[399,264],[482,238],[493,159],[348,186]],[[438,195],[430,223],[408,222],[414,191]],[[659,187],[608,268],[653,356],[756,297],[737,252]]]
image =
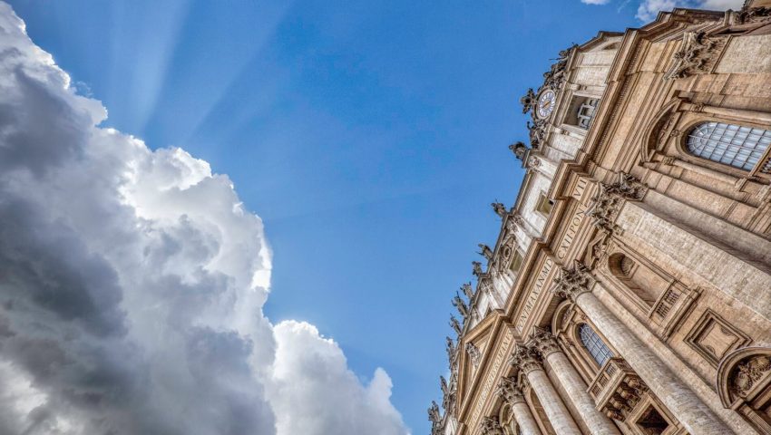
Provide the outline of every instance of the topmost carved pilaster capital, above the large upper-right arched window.
[[710,73],[726,42],[727,36],[708,36],[705,32],[683,34],[680,49],[672,56],[672,66],[664,78],[684,79],[693,74]]

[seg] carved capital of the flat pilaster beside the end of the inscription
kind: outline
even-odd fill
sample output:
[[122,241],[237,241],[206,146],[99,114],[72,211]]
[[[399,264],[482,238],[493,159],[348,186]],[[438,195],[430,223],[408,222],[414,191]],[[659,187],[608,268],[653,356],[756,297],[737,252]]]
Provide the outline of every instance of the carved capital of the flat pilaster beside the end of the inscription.
[[587,216],[594,219],[594,226],[609,235],[618,228],[614,224],[616,216],[625,200],[641,201],[648,188],[629,174],[619,173],[619,180],[613,183],[600,183],[597,195],[592,198],[592,205]]

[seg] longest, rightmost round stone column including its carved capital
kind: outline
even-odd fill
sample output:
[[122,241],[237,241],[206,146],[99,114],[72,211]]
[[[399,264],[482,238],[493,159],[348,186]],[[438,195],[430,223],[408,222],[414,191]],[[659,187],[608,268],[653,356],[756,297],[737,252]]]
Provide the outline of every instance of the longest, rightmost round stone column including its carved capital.
[[717,418],[708,406],[702,402],[688,385],[669,370],[655,353],[632,333],[626,325],[591,294],[594,279],[588,270],[577,265],[572,269],[562,269],[561,276],[555,280],[551,291],[563,297],[569,297],[577,304],[591,322],[597,326],[634,369],[650,391],[664,402],[689,433],[699,435],[725,435],[732,433],[726,424]]

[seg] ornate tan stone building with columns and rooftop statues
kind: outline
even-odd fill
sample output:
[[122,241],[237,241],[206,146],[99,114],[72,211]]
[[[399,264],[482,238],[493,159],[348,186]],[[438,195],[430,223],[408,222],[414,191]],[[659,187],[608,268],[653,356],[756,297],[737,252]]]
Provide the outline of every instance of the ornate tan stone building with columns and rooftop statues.
[[560,53],[433,435],[771,433],[771,0]]

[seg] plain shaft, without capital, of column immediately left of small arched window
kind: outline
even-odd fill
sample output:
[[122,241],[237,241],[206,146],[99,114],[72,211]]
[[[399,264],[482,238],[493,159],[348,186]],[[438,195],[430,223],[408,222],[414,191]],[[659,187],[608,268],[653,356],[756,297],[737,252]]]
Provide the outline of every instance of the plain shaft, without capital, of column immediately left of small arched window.
[[592,435],[620,435],[619,429],[612,421],[595,408],[595,403],[586,391],[586,384],[581,375],[568,361],[565,353],[552,352],[546,357],[562,388],[568,393],[568,398],[575,405]]

